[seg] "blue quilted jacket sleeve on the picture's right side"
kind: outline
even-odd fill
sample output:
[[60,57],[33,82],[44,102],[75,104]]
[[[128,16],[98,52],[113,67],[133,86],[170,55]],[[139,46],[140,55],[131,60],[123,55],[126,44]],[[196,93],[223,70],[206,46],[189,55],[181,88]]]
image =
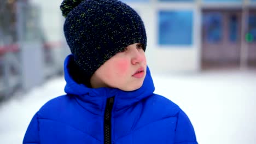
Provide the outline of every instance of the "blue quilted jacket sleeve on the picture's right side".
[[182,110],[177,116],[176,131],[174,137],[176,144],[197,144],[195,131],[188,116]]

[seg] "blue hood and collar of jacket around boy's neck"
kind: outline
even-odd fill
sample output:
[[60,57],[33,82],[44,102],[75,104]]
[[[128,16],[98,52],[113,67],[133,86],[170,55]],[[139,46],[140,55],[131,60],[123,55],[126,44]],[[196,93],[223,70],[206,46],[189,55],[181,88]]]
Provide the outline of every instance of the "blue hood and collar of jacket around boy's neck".
[[135,91],[126,92],[118,88],[89,88],[82,83],[76,82],[73,79],[75,73],[71,73],[73,64],[74,56],[67,56],[64,63],[65,80],[67,82],[65,92],[74,96],[84,109],[97,115],[104,113],[107,99],[110,97],[114,97],[113,111],[118,112],[149,97],[155,90],[148,67],[142,87]]

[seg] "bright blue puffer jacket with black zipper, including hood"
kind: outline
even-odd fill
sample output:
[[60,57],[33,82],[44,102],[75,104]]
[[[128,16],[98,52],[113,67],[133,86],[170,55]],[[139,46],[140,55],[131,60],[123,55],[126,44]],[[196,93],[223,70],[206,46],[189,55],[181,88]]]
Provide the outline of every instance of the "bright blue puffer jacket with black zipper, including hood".
[[150,72],[143,86],[124,92],[88,88],[72,79],[65,60],[66,95],[46,103],[32,118],[23,143],[194,144],[189,118],[172,101],[154,94]]

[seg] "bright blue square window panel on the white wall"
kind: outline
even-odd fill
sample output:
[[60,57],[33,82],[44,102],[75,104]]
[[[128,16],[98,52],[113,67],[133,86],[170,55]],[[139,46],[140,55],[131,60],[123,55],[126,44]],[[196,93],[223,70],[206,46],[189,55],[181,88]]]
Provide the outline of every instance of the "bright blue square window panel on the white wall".
[[159,45],[191,45],[193,11],[161,10],[158,13]]

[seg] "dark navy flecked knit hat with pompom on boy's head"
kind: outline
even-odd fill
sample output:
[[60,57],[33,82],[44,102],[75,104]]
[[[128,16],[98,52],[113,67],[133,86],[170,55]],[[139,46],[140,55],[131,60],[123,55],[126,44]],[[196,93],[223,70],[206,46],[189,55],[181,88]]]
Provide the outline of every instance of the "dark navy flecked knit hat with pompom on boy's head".
[[64,33],[74,61],[86,79],[125,47],[141,43],[147,36],[141,17],[118,0],[64,0]]

